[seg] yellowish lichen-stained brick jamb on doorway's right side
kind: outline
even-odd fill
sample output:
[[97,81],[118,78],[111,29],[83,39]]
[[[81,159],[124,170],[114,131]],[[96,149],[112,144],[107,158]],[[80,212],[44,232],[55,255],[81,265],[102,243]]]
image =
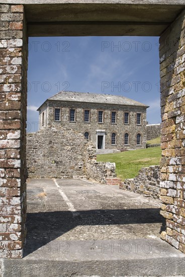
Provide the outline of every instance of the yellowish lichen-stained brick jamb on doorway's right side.
[[161,238],[185,253],[185,11],[160,37]]

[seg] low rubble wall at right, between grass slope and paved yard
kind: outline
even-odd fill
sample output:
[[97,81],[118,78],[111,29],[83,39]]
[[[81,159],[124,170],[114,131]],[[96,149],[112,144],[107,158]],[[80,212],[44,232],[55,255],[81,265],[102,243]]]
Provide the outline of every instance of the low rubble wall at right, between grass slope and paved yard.
[[120,184],[120,188],[144,194],[145,196],[159,198],[159,173],[159,166],[144,167],[135,178],[125,179]]

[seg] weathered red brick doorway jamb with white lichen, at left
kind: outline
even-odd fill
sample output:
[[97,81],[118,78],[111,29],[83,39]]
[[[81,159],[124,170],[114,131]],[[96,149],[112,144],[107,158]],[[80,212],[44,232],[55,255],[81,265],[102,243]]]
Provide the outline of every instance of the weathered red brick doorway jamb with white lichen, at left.
[[26,220],[27,37],[24,7],[0,5],[0,257],[22,257]]

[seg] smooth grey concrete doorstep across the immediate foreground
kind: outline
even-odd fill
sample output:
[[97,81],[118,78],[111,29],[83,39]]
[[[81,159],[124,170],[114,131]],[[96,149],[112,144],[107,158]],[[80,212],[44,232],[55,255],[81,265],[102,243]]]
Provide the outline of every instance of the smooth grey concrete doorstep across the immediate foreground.
[[[183,275],[184,254],[158,239],[34,241],[23,259],[4,259],[3,277]],[[37,248],[37,247],[36,247]]]

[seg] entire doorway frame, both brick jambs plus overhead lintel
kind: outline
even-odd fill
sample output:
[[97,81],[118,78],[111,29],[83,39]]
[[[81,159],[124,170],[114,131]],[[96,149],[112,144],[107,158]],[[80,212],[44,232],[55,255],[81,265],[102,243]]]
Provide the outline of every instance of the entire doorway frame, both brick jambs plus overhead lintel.
[[[18,5],[16,5],[16,2]],[[163,239],[184,252],[184,5],[1,1],[3,258],[20,258],[26,236],[28,36],[160,35]],[[101,11],[101,13],[99,12]],[[146,13],[147,11],[147,13]],[[52,17],[49,15],[52,14]],[[123,16],[124,15],[124,16]],[[70,20],[69,20],[70,18]],[[81,20],[83,18],[83,20]],[[124,18],[124,20],[123,20]],[[144,19],[144,20],[143,20]],[[3,232],[2,232],[3,231]]]

